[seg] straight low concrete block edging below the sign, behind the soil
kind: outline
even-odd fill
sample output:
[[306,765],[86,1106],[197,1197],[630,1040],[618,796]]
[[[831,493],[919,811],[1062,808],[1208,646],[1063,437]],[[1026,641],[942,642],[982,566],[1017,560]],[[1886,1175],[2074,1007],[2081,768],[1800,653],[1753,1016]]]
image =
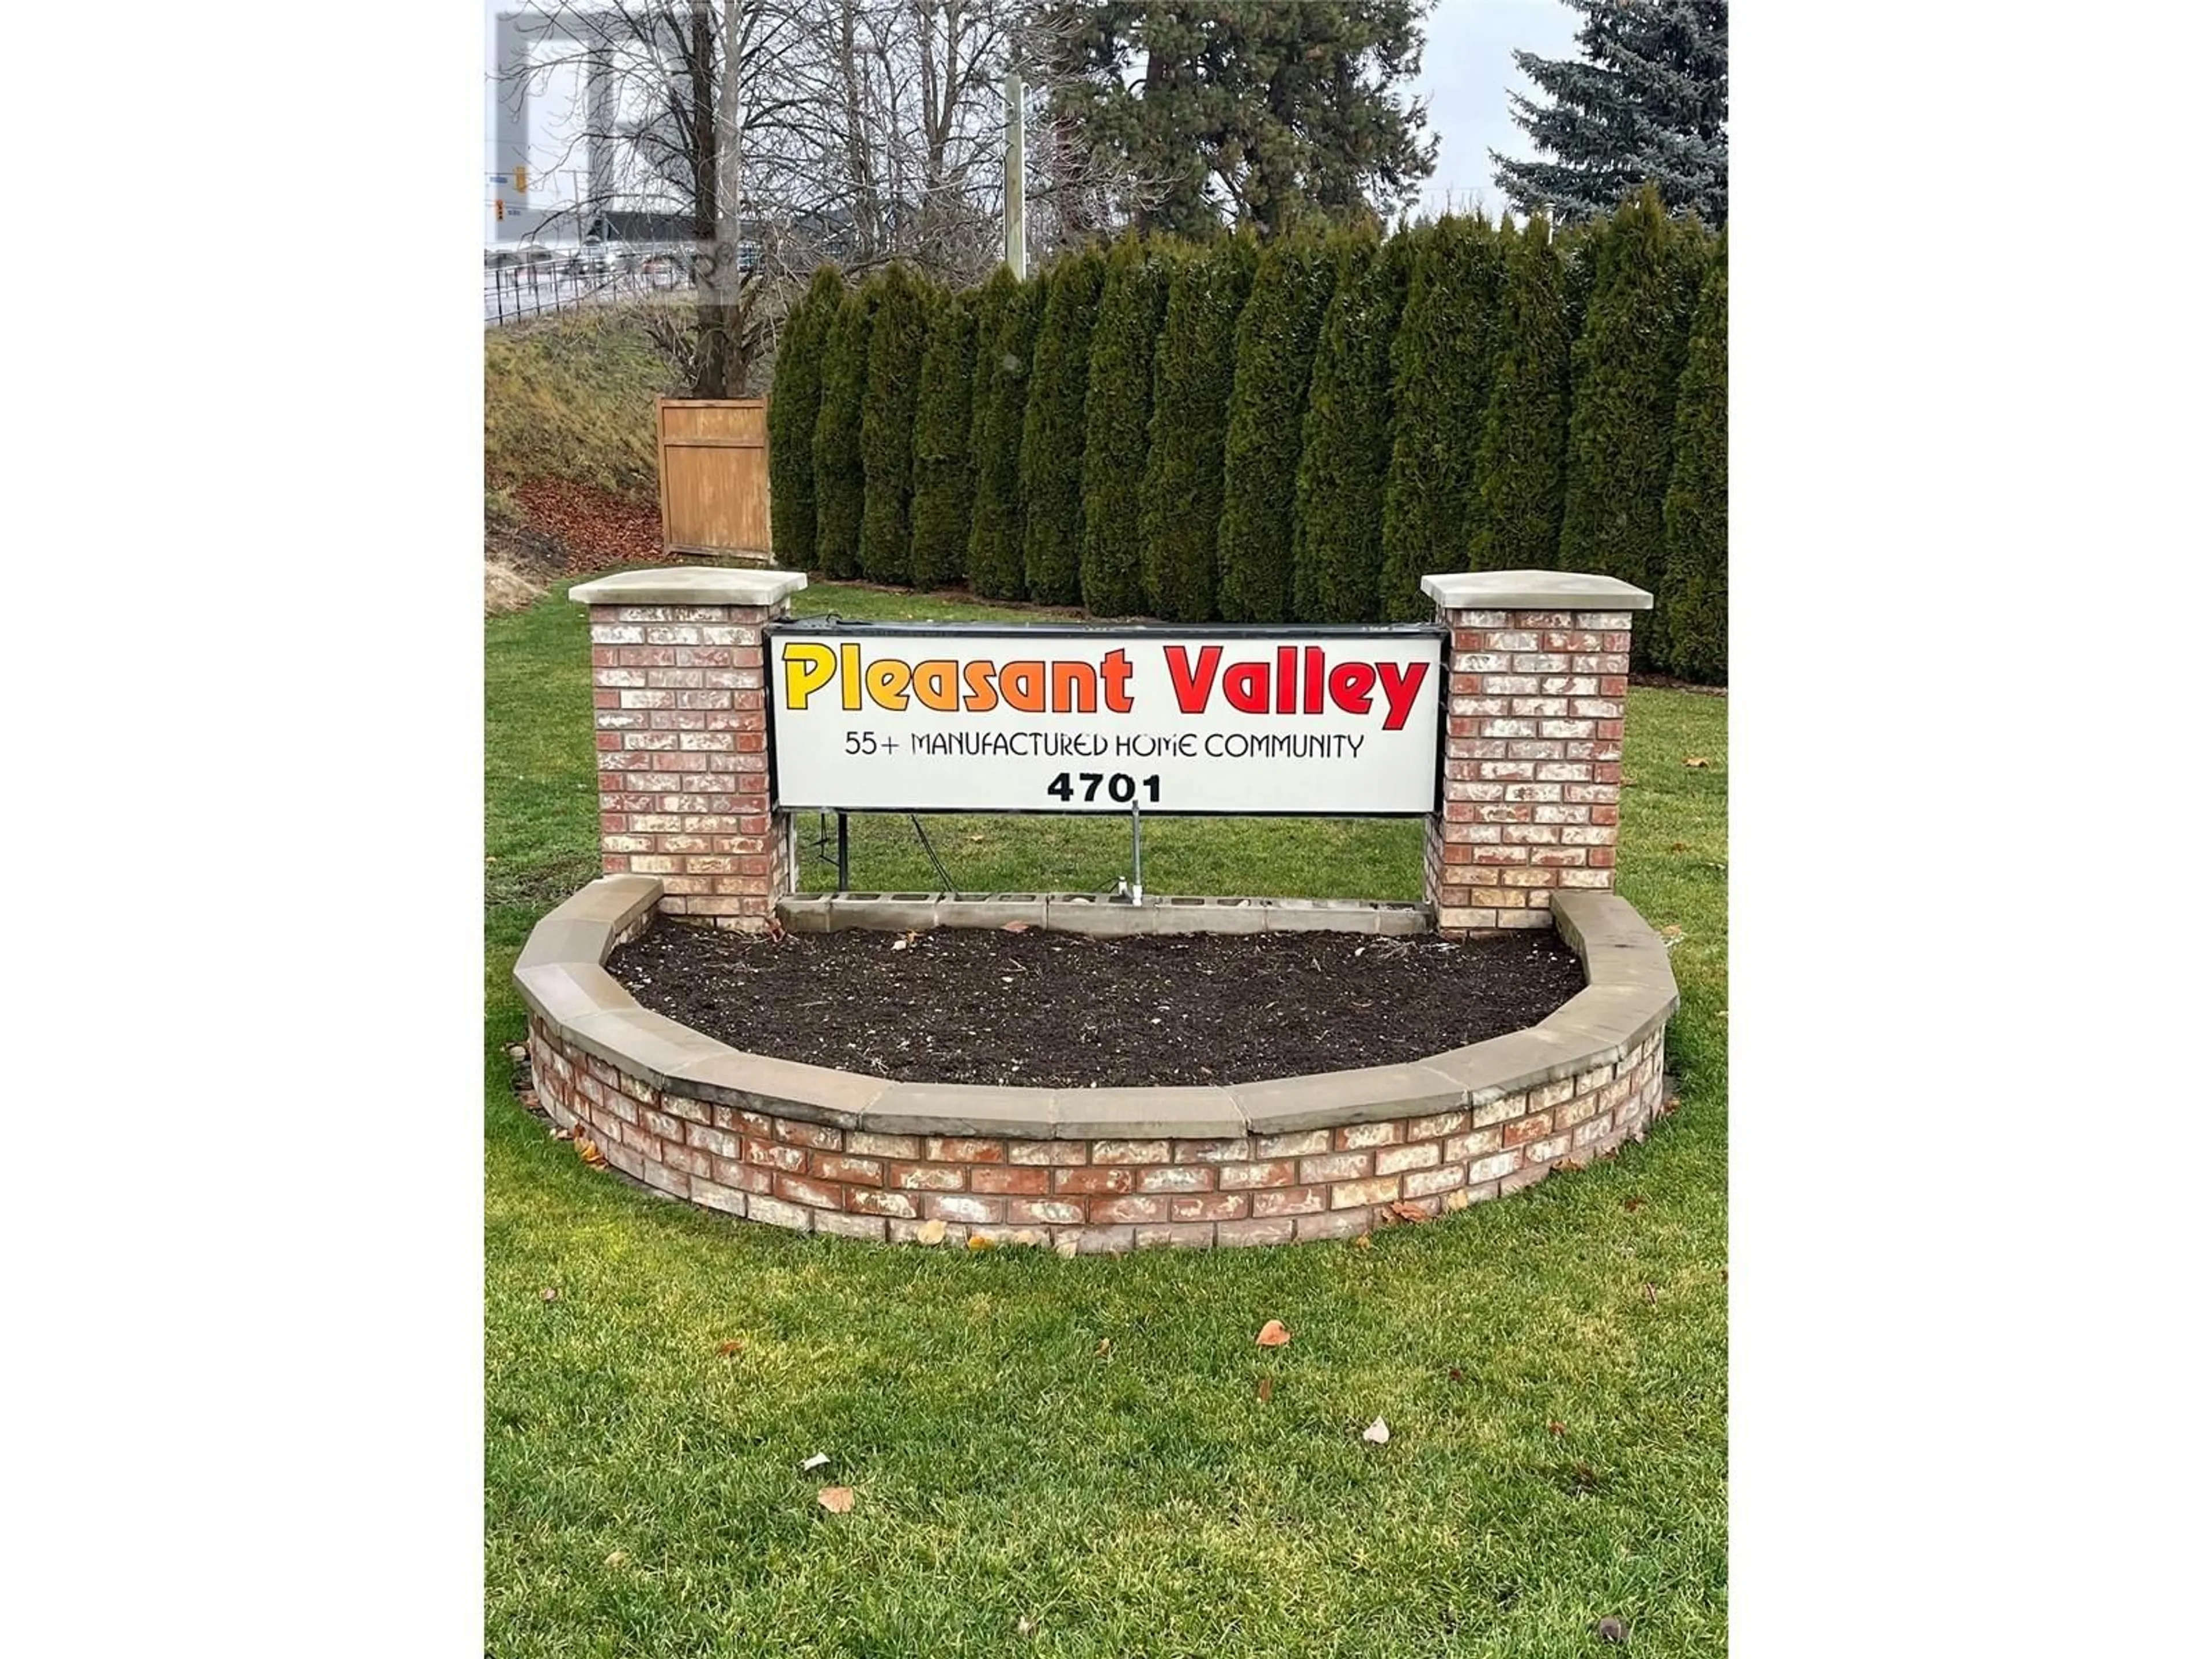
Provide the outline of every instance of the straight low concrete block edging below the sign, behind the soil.
[[1427,933],[1427,905],[1365,898],[1179,898],[1141,905],[1099,894],[785,894],[776,920],[794,933],[929,927],[1042,927],[1091,938],[1139,933]]

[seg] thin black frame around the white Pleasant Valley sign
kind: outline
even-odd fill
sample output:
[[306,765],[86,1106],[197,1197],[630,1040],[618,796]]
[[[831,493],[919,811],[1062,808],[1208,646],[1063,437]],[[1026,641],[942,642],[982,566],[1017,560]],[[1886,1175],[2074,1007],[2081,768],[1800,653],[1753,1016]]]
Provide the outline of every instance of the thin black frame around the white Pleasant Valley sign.
[[[975,814],[991,818],[1126,818],[1130,816],[1126,805],[1106,807],[931,807],[931,805],[907,805],[907,807],[841,807],[816,801],[792,803],[783,799],[781,776],[776,768],[776,688],[774,688],[774,635],[1024,635],[1031,639],[1095,639],[1099,635],[1135,635],[1144,639],[1418,639],[1422,635],[1436,639],[1442,646],[1440,666],[1442,672],[1436,677],[1436,719],[1438,737],[1444,737],[1442,721],[1451,719],[1451,628],[1440,628],[1433,622],[1287,622],[1281,626],[1265,622],[1219,622],[1219,624],[1197,624],[1197,622],[1148,622],[1148,624],[1079,624],[1079,622],[1040,622],[1040,624],[991,624],[991,622],[823,622],[816,617],[792,617],[787,622],[770,622],[761,628],[761,703],[768,710],[768,810],[770,812],[836,812],[843,818],[847,812],[953,812],[953,814]],[[1212,810],[1186,810],[1177,812],[1172,807],[1161,807],[1157,812],[1146,812],[1148,818],[1438,818],[1444,812],[1444,743],[1436,745],[1436,787],[1429,799],[1427,812],[1212,812]]]

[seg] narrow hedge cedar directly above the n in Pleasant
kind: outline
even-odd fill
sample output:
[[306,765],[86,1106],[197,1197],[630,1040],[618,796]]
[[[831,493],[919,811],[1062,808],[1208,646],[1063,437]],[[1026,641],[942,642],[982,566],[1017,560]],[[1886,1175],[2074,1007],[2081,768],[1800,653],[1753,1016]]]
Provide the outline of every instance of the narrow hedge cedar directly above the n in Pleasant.
[[1022,414],[1022,580],[1037,604],[1082,597],[1084,389],[1106,261],[1062,259],[1048,279]]

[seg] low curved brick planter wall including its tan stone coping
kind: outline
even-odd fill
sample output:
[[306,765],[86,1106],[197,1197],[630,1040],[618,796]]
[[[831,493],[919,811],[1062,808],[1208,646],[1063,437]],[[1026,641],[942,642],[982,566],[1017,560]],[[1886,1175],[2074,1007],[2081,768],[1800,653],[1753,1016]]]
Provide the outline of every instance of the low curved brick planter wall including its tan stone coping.
[[1641,1139],[1674,975],[1613,894],[1551,914],[1586,991],[1537,1026],[1409,1066],[1237,1088],[891,1084],[743,1053],[650,1013],[602,962],[659,883],[611,876],[515,962],[538,1097],[670,1197],[799,1232],[1062,1250],[1340,1239],[1515,1192]]

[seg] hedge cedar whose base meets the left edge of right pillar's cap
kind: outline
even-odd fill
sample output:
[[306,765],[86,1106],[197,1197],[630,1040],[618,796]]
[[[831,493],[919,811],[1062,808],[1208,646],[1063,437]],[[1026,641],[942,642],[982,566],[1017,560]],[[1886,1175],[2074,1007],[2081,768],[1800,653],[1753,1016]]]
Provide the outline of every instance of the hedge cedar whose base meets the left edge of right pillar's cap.
[[1506,232],[1480,215],[1449,215],[1413,252],[1405,316],[1391,341],[1394,429],[1383,484],[1383,586],[1389,622],[1422,622],[1436,606],[1420,580],[1467,562],[1475,449],[1491,403],[1500,343]]

